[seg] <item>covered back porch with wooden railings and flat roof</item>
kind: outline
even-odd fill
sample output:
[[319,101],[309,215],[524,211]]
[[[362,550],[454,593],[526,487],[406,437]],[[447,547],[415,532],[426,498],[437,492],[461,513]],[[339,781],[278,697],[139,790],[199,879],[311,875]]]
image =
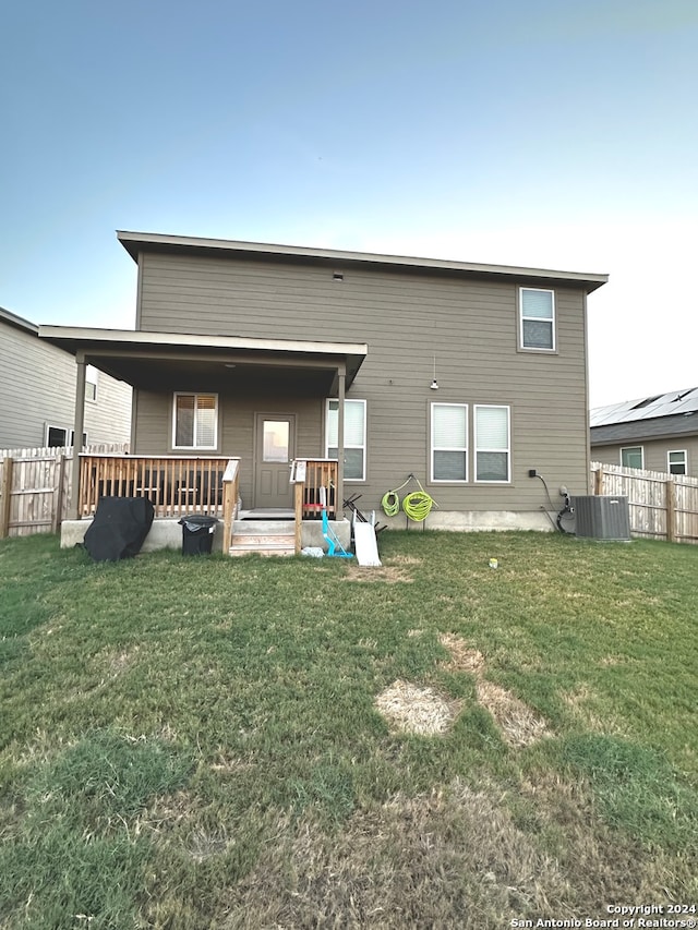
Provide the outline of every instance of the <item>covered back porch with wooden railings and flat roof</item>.
[[[100,495],[131,492],[148,496],[158,519],[222,517],[222,475],[231,461],[236,506],[242,492],[244,509],[296,512],[296,482],[289,481],[294,460],[309,462],[301,519],[317,516],[320,487],[327,488],[328,515],[341,519],[344,401],[368,353],[364,343],[56,326],[40,327],[39,336],[75,357],[76,435],[84,422],[86,365],[134,388],[132,455],[76,457],[72,519],[89,516]],[[177,421],[181,412],[191,425],[197,411],[184,408],[192,398],[208,404],[203,442],[184,435]],[[332,404],[336,439],[329,448]],[[275,430],[285,431],[278,443]],[[314,474],[323,468],[326,473]]]

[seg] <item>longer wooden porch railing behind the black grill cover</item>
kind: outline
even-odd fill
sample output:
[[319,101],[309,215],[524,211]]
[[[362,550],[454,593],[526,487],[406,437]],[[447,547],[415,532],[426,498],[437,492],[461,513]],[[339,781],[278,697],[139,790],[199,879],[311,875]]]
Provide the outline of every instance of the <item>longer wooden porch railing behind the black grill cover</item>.
[[[147,497],[156,517],[224,511],[224,474],[237,459],[81,455],[77,515],[92,517],[100,497]],[[237,469],[236,469],[237,474]],[[237,487],[237,482],[236,482]],[[233,498],[237,502],[237,493]]]

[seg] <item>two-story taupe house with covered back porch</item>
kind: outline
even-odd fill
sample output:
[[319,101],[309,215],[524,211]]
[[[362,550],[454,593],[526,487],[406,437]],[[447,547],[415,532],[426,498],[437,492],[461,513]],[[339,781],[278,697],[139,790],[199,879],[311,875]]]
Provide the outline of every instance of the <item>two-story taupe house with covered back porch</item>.
[[118,238],[135,331],[40,335],[133,385],[133,454],[239,457],[245,508],[290,505],[293,458],[338,458],[363,510],[413,474],[432,527],[550,529],[531,470],[553,507],[559,485],[588,493],[586,305],[605,275]]

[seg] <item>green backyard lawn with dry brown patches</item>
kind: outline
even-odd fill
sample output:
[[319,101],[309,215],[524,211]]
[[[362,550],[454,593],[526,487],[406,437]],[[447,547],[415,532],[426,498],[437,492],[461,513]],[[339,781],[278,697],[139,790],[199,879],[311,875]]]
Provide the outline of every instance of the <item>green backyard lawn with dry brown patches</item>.
[[[358,570],[0,542],[0,927],[498,930],[695,904],[698,547],[380,548]],[[376,704],[395,683],[450,723],[399,729]]]

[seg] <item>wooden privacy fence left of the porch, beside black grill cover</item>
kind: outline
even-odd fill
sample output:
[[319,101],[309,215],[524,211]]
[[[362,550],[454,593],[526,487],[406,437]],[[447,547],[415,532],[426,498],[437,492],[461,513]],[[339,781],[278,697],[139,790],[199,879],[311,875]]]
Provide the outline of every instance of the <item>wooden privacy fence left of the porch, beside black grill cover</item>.
[[[123,443],[91,451],[125,452]],[[57,532],[71,503],[73,449],[0,450],[0,539]]]

